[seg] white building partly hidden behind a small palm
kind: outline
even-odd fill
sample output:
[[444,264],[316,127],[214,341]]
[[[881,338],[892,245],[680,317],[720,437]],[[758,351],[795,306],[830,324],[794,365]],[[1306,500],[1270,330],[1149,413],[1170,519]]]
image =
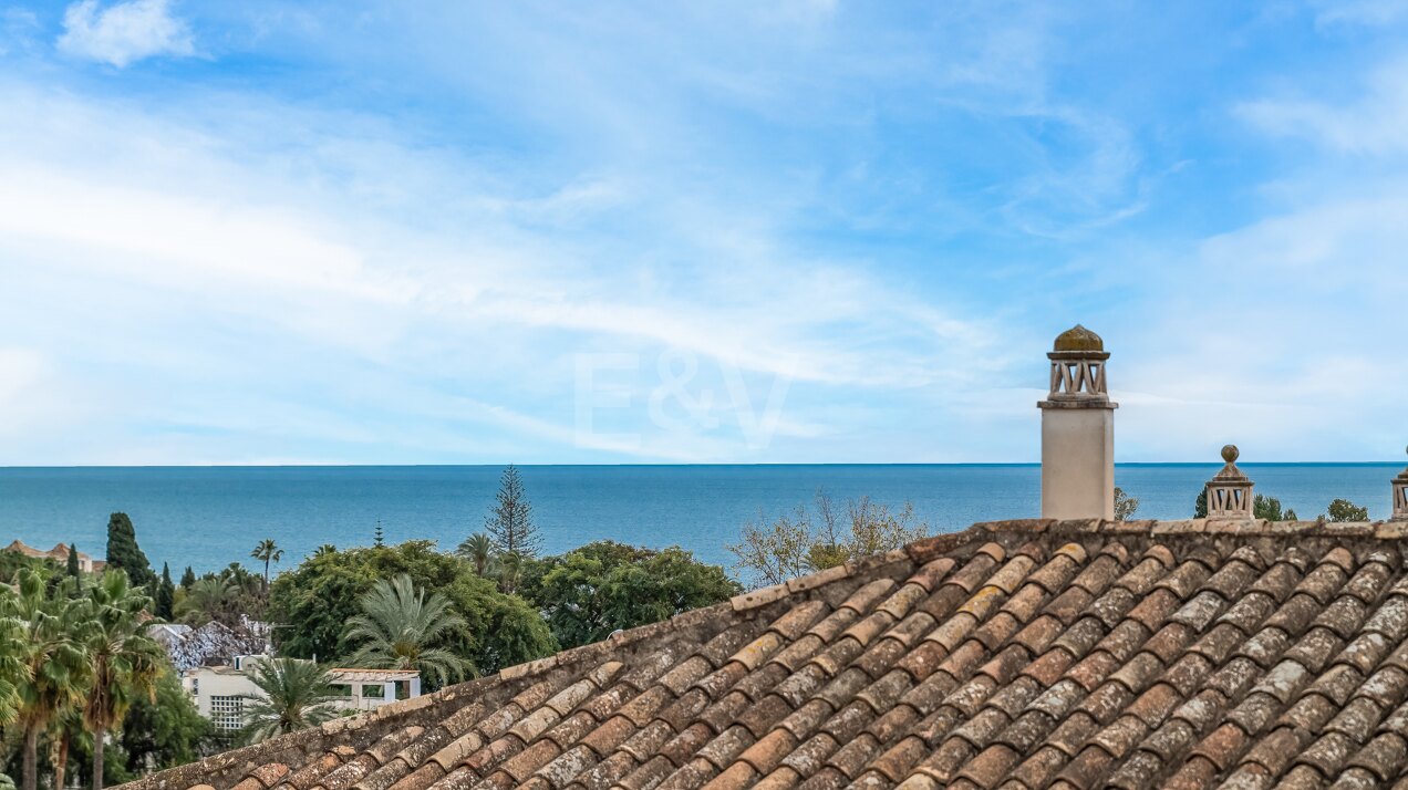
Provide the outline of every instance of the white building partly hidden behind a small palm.
[[[215,722],[215,729],[232,732],[244,727],[248,697],[260,696],[249,670],[269,656],[235,656],[230,666],[197,666],[182,673],[182,686],[196,701],[200,714]],[[397,700],[421,696],[421,675],[410,669],[331,669],[332,684],[342,696],[338,710],[365,711]]]

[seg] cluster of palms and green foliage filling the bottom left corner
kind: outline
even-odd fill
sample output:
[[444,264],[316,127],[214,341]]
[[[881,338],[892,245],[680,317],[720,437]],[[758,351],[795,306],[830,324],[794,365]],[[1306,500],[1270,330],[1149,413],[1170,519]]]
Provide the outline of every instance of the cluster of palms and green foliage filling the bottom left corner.
[[54,562],[13,562],[14,586],[0,586],[4,769],[32,789],[63,786],[97,762],[86,784],[101,787],[196,756],[208,724],[145,635],[145,591],[121,570],[80,586]]

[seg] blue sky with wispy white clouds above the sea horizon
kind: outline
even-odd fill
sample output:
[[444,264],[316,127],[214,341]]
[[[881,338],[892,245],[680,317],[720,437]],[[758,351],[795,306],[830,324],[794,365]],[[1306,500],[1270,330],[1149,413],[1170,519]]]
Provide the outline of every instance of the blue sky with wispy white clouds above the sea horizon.
[[0,465],[1408,444],[1408,0],[0,0]]

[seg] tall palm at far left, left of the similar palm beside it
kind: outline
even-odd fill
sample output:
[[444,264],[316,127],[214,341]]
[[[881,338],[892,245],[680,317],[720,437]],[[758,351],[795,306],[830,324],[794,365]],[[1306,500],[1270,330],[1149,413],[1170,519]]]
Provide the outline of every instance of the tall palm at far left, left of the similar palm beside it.
[[31,569],[17,576],[18,594],[8,603],[11,613],[23,622],[24,665],[18,675],[18,722],[24,732],[23,780],[24,790],[38,784],[39,734],[66,710],[83,704],[89,691],[87,651],[83,649],[90,631],[87,600],[70,598],[61,589],[46,594],[45,577]]

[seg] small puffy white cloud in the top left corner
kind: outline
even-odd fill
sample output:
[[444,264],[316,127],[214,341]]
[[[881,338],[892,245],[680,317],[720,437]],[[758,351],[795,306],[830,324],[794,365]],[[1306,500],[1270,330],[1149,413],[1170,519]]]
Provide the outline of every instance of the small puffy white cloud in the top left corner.
[[158,55],[196,52],[190,28],[170,14],[169,0],[128,0],[106,8],[80,0],[63,13],[59,51],[124,68]]

